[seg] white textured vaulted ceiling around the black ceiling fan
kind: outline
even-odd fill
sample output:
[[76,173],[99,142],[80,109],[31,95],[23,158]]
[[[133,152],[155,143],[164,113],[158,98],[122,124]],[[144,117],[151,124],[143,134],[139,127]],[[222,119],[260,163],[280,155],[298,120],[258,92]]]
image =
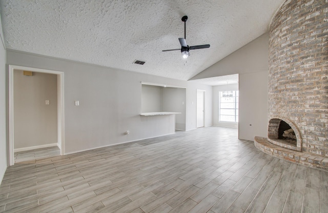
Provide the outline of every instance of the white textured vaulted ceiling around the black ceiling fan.
[[[0,0],[0,7],[8,49],[189,80],[267,32],[283,1]],[[161,51],[180,48],[183,15],[187,44],[211,45],[187,60]]]

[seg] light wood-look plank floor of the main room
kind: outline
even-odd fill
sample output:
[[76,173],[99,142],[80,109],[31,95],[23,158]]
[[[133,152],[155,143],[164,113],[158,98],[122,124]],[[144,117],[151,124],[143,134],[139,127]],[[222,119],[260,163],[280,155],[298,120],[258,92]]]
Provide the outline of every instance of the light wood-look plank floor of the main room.
[[208,127],[8,167],[1,212],[328,212],[328,172]]

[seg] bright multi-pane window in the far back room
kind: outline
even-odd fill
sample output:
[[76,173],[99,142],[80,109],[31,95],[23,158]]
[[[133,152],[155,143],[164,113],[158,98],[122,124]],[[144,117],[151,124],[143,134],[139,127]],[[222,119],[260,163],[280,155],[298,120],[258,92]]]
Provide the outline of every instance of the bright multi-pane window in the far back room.
[[238,122],[239,91],[220,91],[219,121]]

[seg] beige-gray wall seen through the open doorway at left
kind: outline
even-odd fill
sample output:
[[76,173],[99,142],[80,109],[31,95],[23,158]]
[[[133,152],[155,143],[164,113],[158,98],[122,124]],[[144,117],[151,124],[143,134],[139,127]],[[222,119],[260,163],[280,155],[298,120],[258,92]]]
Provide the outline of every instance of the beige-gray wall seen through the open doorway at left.
[[13,83],[14,148],[57,143],[57,75],[14,70]]

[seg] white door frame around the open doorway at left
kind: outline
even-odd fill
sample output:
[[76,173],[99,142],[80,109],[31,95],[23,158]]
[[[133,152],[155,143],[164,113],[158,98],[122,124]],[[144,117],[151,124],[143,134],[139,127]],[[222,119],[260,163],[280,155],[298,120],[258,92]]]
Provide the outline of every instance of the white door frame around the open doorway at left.
[[25,70],[57,75],[57,145],[60,155],[65,154],[65,117],[64,117],[64,72],[32,67],[8,65],[8,114],[9,114],[9,166],[15,164],[14,157],[14,70]]

